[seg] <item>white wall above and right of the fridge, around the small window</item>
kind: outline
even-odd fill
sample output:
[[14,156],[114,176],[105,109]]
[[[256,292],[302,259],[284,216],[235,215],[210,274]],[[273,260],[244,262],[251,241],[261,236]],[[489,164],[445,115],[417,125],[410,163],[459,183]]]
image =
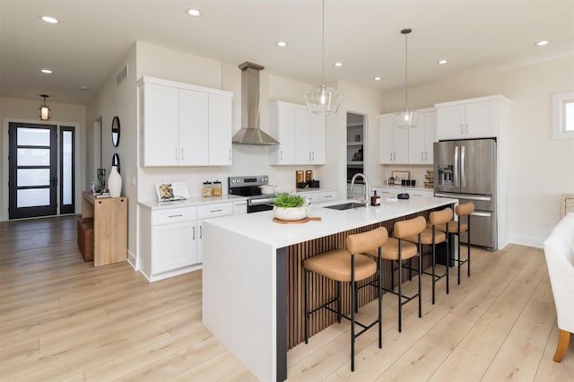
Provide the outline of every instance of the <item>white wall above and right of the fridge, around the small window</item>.
[[[409,88],[409,107],[492,94],[509,98],[509,241],[541,247],[560,220],[560,195],[574,193],[574,140],[552,139],[552,94],[574,90],[574,56]],[[404,108],[404,91],[384,112]]]

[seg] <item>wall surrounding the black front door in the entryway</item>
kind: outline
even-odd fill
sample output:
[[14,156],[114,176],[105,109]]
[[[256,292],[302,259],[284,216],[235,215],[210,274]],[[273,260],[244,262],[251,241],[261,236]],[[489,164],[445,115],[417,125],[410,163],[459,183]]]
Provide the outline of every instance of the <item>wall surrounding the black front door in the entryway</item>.
[[[85,116],[86,108],[83,105],[71,105],[66,103],[47,101],[51,109],[52,117],[48,122],[42,122],[38,117],[39,105],[43,100],[21,100],[8,97],[0,97],[0,121],[2,121],[2,136],[0,136],[0,221],[8,220],[8,126],[10,122],[25,122],[39,125],[57,125],[75,127],[75,188],[76,191],[83,189],[83,169],[85,147]],[[59,171],[59,169],[58,169]],[[58,202],[59,203],[59,202]],[[75,211],[82,210],[82,195],[76,192],[74,199]]]

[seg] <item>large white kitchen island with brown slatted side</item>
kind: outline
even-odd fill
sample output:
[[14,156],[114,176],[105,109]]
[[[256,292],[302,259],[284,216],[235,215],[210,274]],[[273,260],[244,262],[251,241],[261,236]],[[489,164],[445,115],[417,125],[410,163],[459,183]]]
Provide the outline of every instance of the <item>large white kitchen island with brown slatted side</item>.
[[[389,229],[394,221],[456,202],[415,197],[346,211],[312,207],[309,216],[321,221],[303,224],[276,223],[271,211],[205,222],[204,326],[258,379],[284,380],[287,350],[300,342],[301,259],[344,247],[350,233],[381,225]],[[361,305],[369,299],[364,297]],[[313,325],[315,331],[332,318]]]

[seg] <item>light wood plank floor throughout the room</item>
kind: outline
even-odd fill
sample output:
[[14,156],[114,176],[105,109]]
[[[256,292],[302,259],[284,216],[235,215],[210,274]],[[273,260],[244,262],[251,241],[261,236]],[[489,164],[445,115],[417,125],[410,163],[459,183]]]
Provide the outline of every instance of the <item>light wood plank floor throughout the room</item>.
[[[202,326],[200,272],[149,283],[127,263],[93,268],[78,252],[76,219],[0,222],[0,380],[255,380]],[[439,282],[434,306],[423,276],[423,316],[405,305],[402,334],[396,297],[385,295],[383,348],[376,329],[362,335],[354,373],[341,324],[288,353],[289,380],[574,380],[574,342],[552,361],[543,251],[472,253],[472,277],[453,277],[449,295]]]

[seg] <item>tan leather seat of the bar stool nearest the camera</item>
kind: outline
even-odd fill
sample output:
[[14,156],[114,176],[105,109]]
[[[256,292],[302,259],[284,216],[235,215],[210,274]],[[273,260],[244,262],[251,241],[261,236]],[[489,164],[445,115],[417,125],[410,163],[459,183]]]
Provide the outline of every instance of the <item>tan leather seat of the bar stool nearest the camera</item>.
[[[351,253],[346,249],[334,249],[303,261],[303,266],[307,270],[337,282],[351,281],[350,264]],[[375,260],[364,255],[355,255],[355,280],[366,279],[375,272],[377,272]]]

